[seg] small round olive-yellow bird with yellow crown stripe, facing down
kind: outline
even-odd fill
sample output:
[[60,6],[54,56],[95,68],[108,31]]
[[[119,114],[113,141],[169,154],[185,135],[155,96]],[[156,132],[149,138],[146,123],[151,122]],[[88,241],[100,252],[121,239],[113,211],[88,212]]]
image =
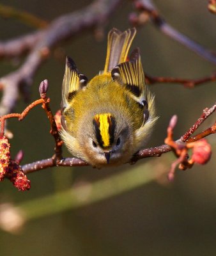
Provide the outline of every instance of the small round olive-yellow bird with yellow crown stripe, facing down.
[[90,81],[66,57],[61,138],[73,156],[96,168],[130,161],[157,120],[139,49],[128,58],[135,33],[135,28],[109,31],[104,70]]

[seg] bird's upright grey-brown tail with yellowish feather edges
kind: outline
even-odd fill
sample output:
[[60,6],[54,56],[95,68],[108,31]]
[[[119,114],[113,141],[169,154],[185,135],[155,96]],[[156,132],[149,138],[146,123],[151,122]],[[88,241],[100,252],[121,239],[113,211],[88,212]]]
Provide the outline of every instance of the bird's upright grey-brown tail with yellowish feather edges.
[[112,68],[127,60],[128,51],[135,33],[135,28],[127,29],[124,32],[116,28],[109,31],[104,73],[111,71]]

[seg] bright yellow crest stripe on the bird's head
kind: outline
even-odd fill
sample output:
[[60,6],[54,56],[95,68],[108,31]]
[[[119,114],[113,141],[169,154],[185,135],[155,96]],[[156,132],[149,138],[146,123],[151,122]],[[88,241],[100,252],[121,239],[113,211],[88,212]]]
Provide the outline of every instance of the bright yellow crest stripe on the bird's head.
[[95,115],[95,120],[99,124],[100,135],[103,141],[103,147],[110,146],[109,125],[111,124],[111,113],[103,113]]

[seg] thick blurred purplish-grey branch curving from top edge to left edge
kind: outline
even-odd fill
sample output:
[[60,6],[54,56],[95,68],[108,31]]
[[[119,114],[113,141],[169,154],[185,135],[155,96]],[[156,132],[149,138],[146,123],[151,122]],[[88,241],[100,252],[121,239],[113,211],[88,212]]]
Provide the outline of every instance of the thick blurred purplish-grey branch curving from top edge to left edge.
[[3,98],[0,103],[0,115],[6,115],[12,111],[18,97],[18,87],[21,83],[26,84],[26,86],[31,84],[36,70],[43,60],[49,56],[52,47],[77,35],[84,29],[93,28],[93,26],[105,22],[120,1],[95,0],[82,10],[62,15],[50,22],[47,29],[43,29],[40,32],[40,36],[36,44],[33,44],[33,48],[24,64],[15,72],[2,77],[0,83],[3,87]]

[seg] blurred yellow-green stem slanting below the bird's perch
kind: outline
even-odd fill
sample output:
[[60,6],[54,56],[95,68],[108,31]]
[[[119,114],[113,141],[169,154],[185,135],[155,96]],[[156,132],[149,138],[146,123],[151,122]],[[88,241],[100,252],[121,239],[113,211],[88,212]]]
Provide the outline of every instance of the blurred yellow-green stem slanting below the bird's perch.
[[[148,184],[153,180],[160,179],[165,172],[166,161],[164,163],[151,161],[145,163],[144,166],[128,168],[124,172],[116,173],[111,177],[93,183],[85,182],[83,184],[82,181],[82,185],[74,184],[71,189],[49,196],[43,196],[43,198],[31,199],[28,202],[13,207],[13,211],[19,212],[19,216],[24,221],[35,220],[36,218],[57,214],[68,209],[77,209],[86,205],[95,204],[112,196],[121,195],[132,189],[139,188],[144,184]],[[22,224],[24,221],[22,221]],[[1,218],[0,223],[1,228],[3,228],[5,225],[3,225]],[[12,232],[14,230],[6,231]]]

